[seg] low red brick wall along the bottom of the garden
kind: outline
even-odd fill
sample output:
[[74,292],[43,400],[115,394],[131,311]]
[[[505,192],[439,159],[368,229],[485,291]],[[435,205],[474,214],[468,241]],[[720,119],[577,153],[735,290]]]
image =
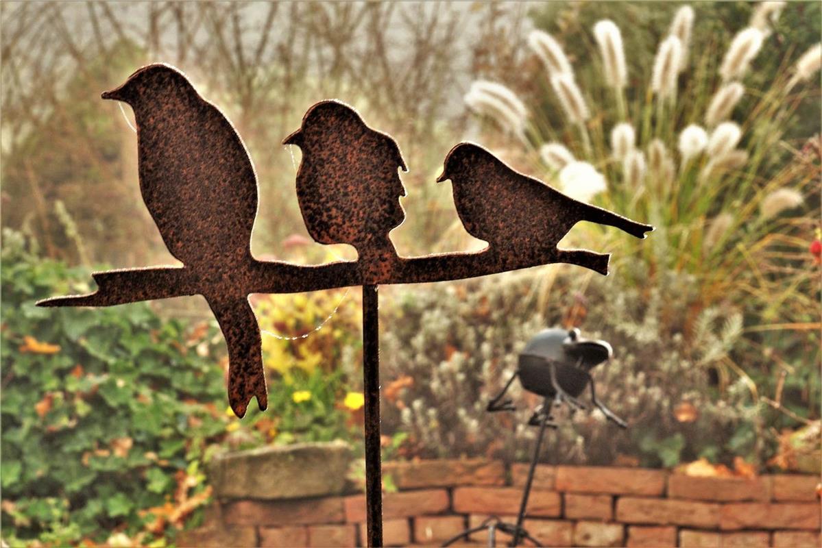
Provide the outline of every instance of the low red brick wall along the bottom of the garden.
[[[515,521],[528,465],[384,463],[386,546],[439,546],[489,515]],[[543,546],[820,546],[818,477],[686,477],[540,465],[525,527]],[[180,546],[363,546],[364,495],[219,500]],[[509,538],[497,535],[497,546]],[[483,534],[459,546],[487,546]]]

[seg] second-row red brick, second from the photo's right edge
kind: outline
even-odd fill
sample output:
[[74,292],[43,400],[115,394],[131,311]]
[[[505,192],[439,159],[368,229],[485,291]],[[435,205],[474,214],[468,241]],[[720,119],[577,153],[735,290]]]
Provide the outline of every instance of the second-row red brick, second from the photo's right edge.
[[620,497],[617,500],[617,521],[622,523],[653,523],[655,525],[717,527],[719,524],[719,504],[686,500]]

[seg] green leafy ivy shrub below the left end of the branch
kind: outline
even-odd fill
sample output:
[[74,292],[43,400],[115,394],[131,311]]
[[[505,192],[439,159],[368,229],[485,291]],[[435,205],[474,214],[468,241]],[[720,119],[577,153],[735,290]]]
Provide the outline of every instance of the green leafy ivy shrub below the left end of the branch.
[[145,540],[179,525],[182,503],[209,495],[200,463],[227,423],[215,329],[189,331],[145,304],[35,306],[86,291],[76,279],[88,273],[4,233],[2,526],[16,546]]

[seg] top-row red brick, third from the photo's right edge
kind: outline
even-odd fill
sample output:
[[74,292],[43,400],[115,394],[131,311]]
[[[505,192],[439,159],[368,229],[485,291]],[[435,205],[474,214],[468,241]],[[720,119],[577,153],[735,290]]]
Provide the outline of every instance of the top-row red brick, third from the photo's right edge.
[[662,470],[617,467],[556,467],[556,490],[612,495],[662,495]]

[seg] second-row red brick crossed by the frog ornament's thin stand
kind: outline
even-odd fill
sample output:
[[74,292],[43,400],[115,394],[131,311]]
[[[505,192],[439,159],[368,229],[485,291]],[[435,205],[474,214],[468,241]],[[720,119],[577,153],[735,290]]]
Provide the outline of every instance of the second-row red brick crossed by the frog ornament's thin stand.
[[[522,490],[515,487],[457,487],[454,511],[458,513],[515,514],[520,510]],[[559,517],[561,497],[554,491],[532,490],[529,516]]]

